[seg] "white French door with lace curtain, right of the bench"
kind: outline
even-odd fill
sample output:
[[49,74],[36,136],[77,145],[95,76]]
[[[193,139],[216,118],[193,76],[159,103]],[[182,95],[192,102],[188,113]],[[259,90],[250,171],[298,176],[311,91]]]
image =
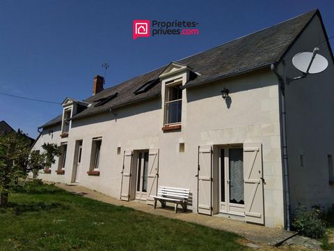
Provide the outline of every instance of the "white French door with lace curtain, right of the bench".
[[244,216],[244,150],[241,146],[221,149],[219,172],[219,211]]

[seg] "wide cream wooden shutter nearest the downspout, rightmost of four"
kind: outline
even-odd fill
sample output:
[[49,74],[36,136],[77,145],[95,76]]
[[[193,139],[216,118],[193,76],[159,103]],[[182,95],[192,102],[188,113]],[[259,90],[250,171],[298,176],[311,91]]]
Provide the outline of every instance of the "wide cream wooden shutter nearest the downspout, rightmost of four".
[[244,196],[246,222],[264,224],[261,143],[244,144]]

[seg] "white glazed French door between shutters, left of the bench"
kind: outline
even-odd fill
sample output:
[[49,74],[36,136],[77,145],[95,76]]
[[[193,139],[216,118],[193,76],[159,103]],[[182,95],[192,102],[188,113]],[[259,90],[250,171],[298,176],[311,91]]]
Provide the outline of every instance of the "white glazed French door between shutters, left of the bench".
[[136,199],[145,200],[148,192],[148,151],[138,152],[136,172]]

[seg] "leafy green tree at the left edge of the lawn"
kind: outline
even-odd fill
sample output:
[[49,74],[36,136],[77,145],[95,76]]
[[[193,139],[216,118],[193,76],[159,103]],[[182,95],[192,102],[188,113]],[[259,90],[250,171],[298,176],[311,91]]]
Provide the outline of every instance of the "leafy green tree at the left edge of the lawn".
[[60,155],[56,144],[44,144],[42,148],[42,153],[31,151],[31,142],[21,130],[0,137],[0,207],[7,205],[8,195],[17,187],[19,179],[51,166],[54,157]]

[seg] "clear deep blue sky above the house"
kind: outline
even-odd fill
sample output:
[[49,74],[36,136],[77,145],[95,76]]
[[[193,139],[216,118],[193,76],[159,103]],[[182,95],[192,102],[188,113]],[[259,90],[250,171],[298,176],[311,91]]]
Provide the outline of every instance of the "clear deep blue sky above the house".
[[[82,100],[92,93],[94,75],[104,75],[104,61],[106,88],[315,8],[333,36],[332,0],[0,0],[0,93]],[[133,40],[133,20],[197,22],[200,35]],[[31,137],[61,111],[61,105],[0,95],[0,121]]]

